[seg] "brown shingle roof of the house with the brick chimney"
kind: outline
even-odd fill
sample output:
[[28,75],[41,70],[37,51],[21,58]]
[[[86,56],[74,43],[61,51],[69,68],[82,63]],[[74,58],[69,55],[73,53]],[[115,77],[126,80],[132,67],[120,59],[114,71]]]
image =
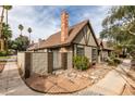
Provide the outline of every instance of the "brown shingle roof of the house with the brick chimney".
[[[82,28],[89,24],[89,21],[83,21],[74,26],[69,27],[69,37],[64,42],[61,42],[61,31],[58,31],[53,35],[51,35],[46,41],[42,41],[39,43],[39,47],[37,49],[45,49],[45,48],[57,48],[61,46],[70,46],[71,42],[74,40],[74,38],[77,36],[77,34],[82,30]],[[89,24],[90,25],[90,24]],[[91,26],[90,26],[91,28]],[[96,43],[98,46],[98,41],[96,39],[96,36],[94,34],[94,30],[91,28],[91,34],[94,35],[94,38],[96,40]]]

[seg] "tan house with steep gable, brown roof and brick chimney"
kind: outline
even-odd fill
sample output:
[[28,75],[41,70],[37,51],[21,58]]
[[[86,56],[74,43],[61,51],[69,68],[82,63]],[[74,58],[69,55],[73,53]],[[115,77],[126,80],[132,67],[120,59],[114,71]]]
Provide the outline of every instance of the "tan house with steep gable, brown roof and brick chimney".
[[[61,31],[51,35],[46,41],[36,43],[29,51],[53,52],[58,55],[60,52],[71,52],[73,56],[85,55],[90,62],[99,62],[100,45],[95,36],[89,21],[81,22],[69,27],[69,14],[61,14]],[[103,47],[106,51],[106,48]],[[56,59],[56,61],[59,59]]]

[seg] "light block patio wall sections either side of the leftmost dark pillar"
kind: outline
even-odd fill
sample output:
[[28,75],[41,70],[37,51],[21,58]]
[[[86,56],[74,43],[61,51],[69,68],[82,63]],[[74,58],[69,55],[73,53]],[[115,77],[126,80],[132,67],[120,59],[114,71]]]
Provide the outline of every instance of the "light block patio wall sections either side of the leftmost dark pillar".
[[17,53],[17,66],[22,71],[22,76],[25,74],[25,64],[30,62],[30,74],[37,73],[40,75],[48,73],[48,53],[47,52],[29,52],[30,61],[25,58],[26,52]]

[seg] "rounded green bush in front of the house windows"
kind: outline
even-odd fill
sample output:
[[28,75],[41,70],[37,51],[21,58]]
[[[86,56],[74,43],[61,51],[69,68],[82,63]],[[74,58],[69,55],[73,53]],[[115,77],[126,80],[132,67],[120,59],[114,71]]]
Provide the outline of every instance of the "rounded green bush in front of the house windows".
[[87,70],[90,65],[89,60],[86,56],[79,55],[73,58],[73,63],[77,70],[82,71]]

